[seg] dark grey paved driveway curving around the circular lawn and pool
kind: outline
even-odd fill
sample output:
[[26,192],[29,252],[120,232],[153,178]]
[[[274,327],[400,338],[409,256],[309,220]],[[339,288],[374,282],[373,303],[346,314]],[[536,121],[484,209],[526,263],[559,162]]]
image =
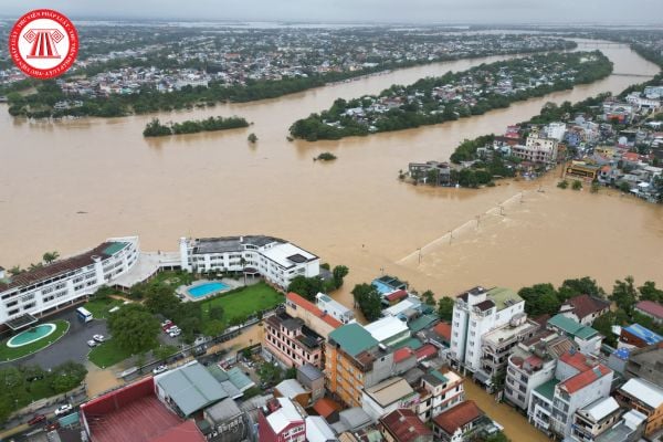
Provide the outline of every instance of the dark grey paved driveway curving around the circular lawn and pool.
[[[2,365],[39,365],[43,369],[49,369],[70,360],[85,364],[87,354],[90,352],[87,341],[92,339],[92,336],[104,335],[105,337],[108,337],[108,329],[105,320],[93,319],[87,324],[83,324],[78,320],[75,308],[49,316],[46,319],[40,320],[40,323],[48,323],[49,320],[54,319],[65,319],[70,323],[69,332],[60,338],[60,340],[34,355],[11,362],[3,362]],[[0,365],[0,367],[2,367],[2,365]]]

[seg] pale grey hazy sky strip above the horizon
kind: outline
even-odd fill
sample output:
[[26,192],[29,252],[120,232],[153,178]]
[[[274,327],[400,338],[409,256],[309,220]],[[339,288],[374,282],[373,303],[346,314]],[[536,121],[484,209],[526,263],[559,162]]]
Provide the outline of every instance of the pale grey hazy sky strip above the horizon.
[[0,0],[72,18],[663,24],[663,0]]

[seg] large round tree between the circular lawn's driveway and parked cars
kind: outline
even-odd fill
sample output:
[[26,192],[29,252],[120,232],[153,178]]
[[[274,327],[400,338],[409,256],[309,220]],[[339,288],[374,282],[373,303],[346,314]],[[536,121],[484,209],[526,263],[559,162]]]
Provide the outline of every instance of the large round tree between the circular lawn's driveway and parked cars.
[[133,355],[155,347],[160,332],[159,322],[140,304],[125,305],[122,315],[110,315],[108,329],[119,347]]

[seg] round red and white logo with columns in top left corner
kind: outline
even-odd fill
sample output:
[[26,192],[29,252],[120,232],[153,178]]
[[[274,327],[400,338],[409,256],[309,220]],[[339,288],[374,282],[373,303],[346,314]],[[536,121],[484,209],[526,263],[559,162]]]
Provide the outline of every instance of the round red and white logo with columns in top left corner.
[[13,25],[9,34],[9,53],[27,75],[52,78],[74,64],[78,33],[70,19],[60,12],[36,9]]

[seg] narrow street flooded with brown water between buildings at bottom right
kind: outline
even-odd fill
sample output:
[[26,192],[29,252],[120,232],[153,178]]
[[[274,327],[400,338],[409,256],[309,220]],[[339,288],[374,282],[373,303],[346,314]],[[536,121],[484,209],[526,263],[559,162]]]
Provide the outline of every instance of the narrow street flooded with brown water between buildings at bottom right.
[[488,394],[485,390],[465,378],[463,382],[465,388],[465,399],[476,402],[478,408],[492,420],[504,427],[504,433],[513,441],[546,442],[550,441],[544,433],[538,431],[527,422],[527,418],[520,414],[516,409],[495,402],[495,397]]

